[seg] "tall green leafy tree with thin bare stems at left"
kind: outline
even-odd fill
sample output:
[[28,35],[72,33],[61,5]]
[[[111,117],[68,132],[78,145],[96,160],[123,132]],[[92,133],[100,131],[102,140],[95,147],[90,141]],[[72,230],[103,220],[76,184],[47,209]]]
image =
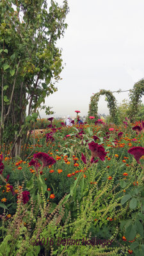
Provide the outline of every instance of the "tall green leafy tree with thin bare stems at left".
[[[0,2],[0,136],[4,154],[12,142],[10,155],[24,155],[29,121],[35,123],[45,97],[57,90],[63,67],[56,41],[67,28],[67,13],[67,0],[62,6],[52,0],[49,4],[46,0]],[[45,113],[51,113],[49,107],[45,106]]]

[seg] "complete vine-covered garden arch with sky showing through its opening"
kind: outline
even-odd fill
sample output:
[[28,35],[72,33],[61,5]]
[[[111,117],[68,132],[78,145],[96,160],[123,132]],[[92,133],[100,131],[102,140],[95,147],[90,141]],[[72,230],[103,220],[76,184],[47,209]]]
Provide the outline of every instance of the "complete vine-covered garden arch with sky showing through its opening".
[[99,102],[100,95],[106,95],[106,98],[108,100],[109,113],[111,115],[111,121],[117,122],[117,115],[116,115],[117,104],[116,104],[115,96],[113,96],[113,93],[111,91],[107,91],[104,89],[100,90],[100,92],[95,93],[90,98],[88,117],[89,116],[95,116],[95,118],[97,117],[98,102]]

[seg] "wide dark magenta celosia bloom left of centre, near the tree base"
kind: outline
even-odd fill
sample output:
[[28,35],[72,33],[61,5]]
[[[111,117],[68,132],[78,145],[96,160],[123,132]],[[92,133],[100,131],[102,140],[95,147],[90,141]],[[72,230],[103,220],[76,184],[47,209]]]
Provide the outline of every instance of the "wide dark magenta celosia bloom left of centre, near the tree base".
[[49,166],[52,165],[54,163],[56,163],[56,160],[54,160],[53,157],[49,156],[48,154],[44,153],[44,152],[39,152],[36,154],[33,154],[33,158],[34,159],[40,159],[40,161],[42,161],[42,169],[45,166]]

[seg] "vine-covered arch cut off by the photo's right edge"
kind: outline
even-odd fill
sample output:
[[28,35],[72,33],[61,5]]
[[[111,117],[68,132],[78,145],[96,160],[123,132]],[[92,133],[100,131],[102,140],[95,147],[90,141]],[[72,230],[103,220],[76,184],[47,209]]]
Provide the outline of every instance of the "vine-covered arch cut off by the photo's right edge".
[[144,79],[141,79],[134,84],[132,90],[130,90],[129,98],[131,99],[128,111],[128,117],[131,121],[134,120],[134,117],[138,113],[138,107],[141,104],[141,97],[144,95]]

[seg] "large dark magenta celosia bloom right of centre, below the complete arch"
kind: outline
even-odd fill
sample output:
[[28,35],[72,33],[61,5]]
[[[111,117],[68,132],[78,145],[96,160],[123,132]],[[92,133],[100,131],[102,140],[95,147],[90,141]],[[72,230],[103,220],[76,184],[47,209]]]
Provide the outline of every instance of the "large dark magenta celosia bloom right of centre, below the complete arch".
[[92,157],[99,157],[101,161],[105,160],[106,152],[104,147],[102,147],[98,143],[95,143],[94,141],[92,141],[91,143],[88,143],[88,147],[92,152]]

